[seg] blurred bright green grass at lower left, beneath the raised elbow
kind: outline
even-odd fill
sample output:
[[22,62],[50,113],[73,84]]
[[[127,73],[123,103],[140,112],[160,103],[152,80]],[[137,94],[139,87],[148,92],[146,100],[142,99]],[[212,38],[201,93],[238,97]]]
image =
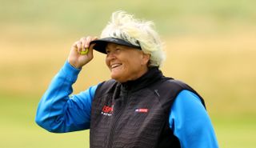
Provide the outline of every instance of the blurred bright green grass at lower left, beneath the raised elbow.
[[0,100],[0,147],[89,147],[89,131],[51,134],[39,128],[34,122],[39,98],[15,94]]

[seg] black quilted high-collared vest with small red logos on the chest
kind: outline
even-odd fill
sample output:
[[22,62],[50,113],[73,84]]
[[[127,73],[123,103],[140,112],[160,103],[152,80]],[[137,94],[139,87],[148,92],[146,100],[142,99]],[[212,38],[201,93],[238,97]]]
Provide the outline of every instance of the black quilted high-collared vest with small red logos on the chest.
[[180,147],[170,130],[169,115],[182,90],[198,94],[185,83],[164,77],[157,67],[132,82],[102,82],[92,102],[90,147]]

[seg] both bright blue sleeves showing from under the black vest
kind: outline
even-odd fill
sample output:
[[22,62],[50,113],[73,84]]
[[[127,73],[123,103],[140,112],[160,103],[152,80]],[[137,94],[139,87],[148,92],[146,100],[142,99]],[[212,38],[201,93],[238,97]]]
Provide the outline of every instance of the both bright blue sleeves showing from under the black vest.
[[[98,85],[70,95],[79,72],[66,62],[55,75],[38,104],[36,122],[39,126],[54,133],[90,129],[91,102]],[[178,94],[170,110],[169,122],[182,148],[218,147],[210,118],[196,94],[188,90]]]

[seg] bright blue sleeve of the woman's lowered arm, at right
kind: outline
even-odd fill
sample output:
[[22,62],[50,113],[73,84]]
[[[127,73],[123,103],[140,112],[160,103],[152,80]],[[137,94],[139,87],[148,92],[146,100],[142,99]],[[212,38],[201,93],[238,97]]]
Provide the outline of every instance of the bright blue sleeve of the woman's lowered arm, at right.
[[182,148],[217,148],[214,128],[202,102],[189,90],[182,90],[170,110],[170,129]]

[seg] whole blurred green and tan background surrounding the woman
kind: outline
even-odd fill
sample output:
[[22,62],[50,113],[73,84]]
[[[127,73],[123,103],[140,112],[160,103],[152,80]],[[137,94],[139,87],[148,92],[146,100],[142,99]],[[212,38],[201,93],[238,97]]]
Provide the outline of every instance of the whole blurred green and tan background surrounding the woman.
[[[51,134],[34,123],[38,101],[70,46],[99,36],[112,12],[155,22],[166,76],[205,98],[220,147],[256,146],[256,1],[0,0],[0,147],[89,147],[89,131]],[[109,78],[95,53],[74,93]]]

